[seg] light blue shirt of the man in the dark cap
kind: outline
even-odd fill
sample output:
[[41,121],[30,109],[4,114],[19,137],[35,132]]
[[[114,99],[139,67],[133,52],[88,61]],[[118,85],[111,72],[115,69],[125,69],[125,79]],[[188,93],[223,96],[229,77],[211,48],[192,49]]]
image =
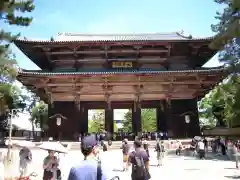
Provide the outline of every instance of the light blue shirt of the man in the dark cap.
[[[72,167],[68,180],[97,180],[97,164],[95,159],[82,161],[79,165]],[[102,180],[107,180],[106,168],[101,163]]]

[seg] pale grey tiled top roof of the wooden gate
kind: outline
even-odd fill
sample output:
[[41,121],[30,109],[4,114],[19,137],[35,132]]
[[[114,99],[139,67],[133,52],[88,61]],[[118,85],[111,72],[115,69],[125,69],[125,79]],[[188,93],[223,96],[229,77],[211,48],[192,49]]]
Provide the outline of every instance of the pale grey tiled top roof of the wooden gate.
[[78,34],[58,33],[54,40],[17,40],[30,42],[112,42],[112,41],[189,41],[189,40],[211,40],[208,38],[193,38],[178,32],[173,33],[144,33],[144,34]]

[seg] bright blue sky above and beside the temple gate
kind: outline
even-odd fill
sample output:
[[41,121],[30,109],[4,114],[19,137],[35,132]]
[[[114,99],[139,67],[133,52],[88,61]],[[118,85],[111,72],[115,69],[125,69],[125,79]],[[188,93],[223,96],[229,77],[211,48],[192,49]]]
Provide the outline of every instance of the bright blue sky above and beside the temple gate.
[[[211,36],[216,11],[213,0],[36,0],[29,27],[1,27],[28,39],[50,39],[58,32],[154,33],[184,30],[193,36]],[[38,69],[13,46],[21,68]],[[217,58],[208,66],[218,65]]]

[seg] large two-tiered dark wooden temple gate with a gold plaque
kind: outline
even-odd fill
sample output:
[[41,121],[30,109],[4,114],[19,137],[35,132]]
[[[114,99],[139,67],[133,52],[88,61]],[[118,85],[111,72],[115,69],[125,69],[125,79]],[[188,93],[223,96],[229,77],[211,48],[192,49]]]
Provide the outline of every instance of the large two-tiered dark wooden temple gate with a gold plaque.
[[[212,38],[179,33],[140,35],[59,34],[56,40],[16,40],[42,70],[20,70],[18,79],[49,103],[49,116],[67,118],[65,139],[88,130],[88,110],[105,109],[113,133],[113,109],[132,109],[141,131],[141,108],[156,108],[157,130],[169,137],[200,135],[197,101],[225,77],[222,68],[202,68],[216,51]],[[186,125],[184,113],[189,112]],[[49,136],[57,127],[49,121]]]

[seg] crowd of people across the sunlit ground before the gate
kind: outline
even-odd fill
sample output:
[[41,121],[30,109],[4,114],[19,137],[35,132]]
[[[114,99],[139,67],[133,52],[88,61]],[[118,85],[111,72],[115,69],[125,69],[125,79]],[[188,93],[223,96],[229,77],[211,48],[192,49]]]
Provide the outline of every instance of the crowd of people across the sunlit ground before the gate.
[[[161,137],[161,136],[159,136]],[[174,141],[169,141],[170,144]],[[238,168],[239,161],[239,147],[238,141],[233,142],[233,153],[235,154],[236,168]],[[99,158],[100,151],[108,151],[111,143],[99,139],[96,135],[85,135],[81,138],[81,152],[84,160],[80,161],[77,166],[71,168],[68,180],[104,180],[117,177],[109,177],[107,168],[101,163]],[[189,145],[189,144],[188,144]],[[200,159],[205,159],[208,148],[211,147],[212,152],[216,154],[226,155],[227,145],[224,139],[217,138],[208,141],[206,138],[195,137],[192,139],[190,146],[183,145],[181,141],[175,140],[176,155],[182,154],[183,150],[193,152],[193,156]],[[128,171],[131,168],[132,180],[147,180],[151,175],[149,172],[150,153],[148,139],[144,136],[136,136],[133,142],[134,149],[131,151],[131,144],[127,138],[124,138],[121,145],[123,171]],[[166,147],[161,138],[156,138],[154,151],[156,152],[157,166],[163,166],[165,152],[169,147]],[[19,152],[20,162],[19,171],[21,176],[25,176],[27,172],[27,165],[32,160],[30,149],[23,147]],[[43,160],[43,180],[58,180],[61,179],[61,170],[59,169],[59,157],[55,151],[49,150],[48,155]]]

